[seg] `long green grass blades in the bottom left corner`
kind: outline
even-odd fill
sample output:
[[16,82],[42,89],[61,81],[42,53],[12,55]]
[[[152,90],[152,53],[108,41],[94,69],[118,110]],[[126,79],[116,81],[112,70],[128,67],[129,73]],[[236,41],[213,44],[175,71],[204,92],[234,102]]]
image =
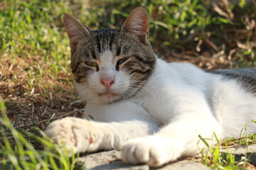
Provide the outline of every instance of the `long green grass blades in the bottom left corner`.
[[[1,137],[0,143],[0,157],[1,157],[1,169],[74,169],[75,157],[78,155],[72,155],[68,157],[68,153],[65,149],[53,144],[48,139],[44,132],[40,129],[36,129],[36,132],[41,135],[35,135],[31,132],[23,131],[18,132],[6,115],[4,101],[0,98],[0,110],[1,110]],[[11,132],[11,137],[14,137],[15,145],[11,146],[9,137],[6,136],[6,130]],[[44,145],[44,150],[37,150],[30,142],[30,140],[36,140],[38,145]]]

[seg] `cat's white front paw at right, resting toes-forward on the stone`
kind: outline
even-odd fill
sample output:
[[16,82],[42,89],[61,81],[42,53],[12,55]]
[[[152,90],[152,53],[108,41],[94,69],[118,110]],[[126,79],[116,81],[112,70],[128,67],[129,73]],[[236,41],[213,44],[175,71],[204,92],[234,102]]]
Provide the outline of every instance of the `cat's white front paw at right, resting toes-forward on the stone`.
[[181,155],[180,149],[171,149],[170,145],[167,140],[154,136],[130,140],[122,147],[122,160],[127,164],[161,166]]

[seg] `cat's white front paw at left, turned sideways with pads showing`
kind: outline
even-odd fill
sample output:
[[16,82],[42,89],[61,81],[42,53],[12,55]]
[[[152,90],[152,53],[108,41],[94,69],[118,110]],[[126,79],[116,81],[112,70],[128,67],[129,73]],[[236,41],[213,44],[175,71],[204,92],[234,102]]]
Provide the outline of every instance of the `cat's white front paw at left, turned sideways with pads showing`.
[[80,118],[56,120],[45,132],[58,146],[65,147],[68,154],[95,150],[97,138],[102,138],[97,126]]

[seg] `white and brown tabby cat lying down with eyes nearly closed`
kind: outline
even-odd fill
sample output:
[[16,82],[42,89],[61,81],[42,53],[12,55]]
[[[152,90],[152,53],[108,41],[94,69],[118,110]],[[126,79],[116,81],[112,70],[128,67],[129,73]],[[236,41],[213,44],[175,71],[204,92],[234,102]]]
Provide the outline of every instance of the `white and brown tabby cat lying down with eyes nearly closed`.
[[56,120],[46,135],[69,153],[117,149],[127,164],[161,166],[205,147],[198,135],[214,145],[214,134],[256,132],[256,68],[205,72],[159,59],[143,7],[120,29],[90,30],[68,14],[63,21],[85,119]]

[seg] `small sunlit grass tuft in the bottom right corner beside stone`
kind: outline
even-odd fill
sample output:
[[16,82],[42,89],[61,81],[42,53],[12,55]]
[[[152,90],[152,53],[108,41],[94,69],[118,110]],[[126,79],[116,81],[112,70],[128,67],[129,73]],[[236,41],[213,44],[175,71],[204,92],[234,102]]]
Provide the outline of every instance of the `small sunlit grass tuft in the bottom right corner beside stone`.
[[[244,146],[245,151],[249,145],[256,143],[256,134],[247,135],[246,128],[241,130],[240,137],[238,139],[230,138],[228,140],[220,141],[215,134],[213,139],[204,139],[201,135],[199,142],[203,142],[206,147],[201,149],[201,156],[196,157],[196,162],[201,162],[211,169],[247,169],[248,160],[252,156],[252,153],[244,155],[236,155],[234,152],[230,152],[230,148]],[[215,140],[217,145],[211,146],[209,140]],[[225,149],[225,152],[223,152]]]

